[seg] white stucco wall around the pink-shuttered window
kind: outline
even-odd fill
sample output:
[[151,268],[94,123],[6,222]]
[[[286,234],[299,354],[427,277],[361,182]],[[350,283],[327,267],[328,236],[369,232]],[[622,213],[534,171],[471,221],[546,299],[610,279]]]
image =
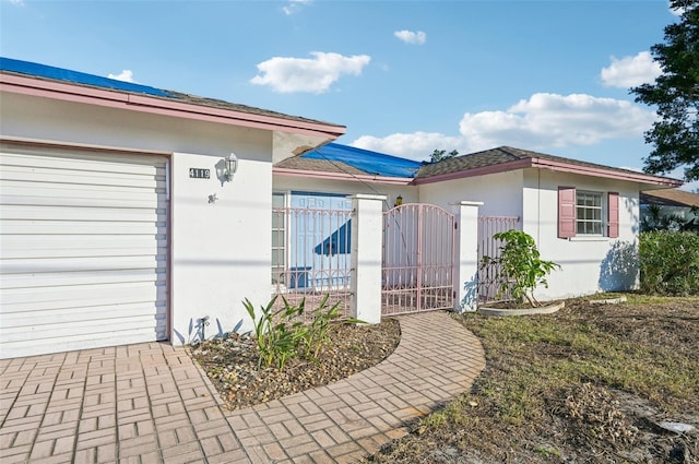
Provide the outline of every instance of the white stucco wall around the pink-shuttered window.
[[[558,187],[619,193],[619,237],[558,238]],[[542,258],[561,264],[541,287],[542,300],[590,295],[600,290],[635,288],[638,234],[638,190],[633,182],[591,176],[520,169],[474,178],[454,179],[419,186],[419,201],[448,211],[454,203],[483,202],[481,216],[519,216],[522,229],[538,246]],[[606,205],[603,211],[606,217]]]

